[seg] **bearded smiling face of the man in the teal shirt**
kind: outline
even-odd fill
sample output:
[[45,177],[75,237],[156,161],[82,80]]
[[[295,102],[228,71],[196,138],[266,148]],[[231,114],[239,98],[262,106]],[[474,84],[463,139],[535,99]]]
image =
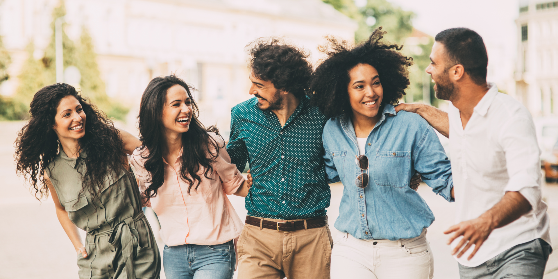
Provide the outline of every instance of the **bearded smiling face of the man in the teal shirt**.
[[281,90],[277,90],[271,81],[266,81],[254,76],[250,72],[248,76],[252,81],[250,86],[250,94],[258,99],[258,107],[261,110],[278,110],[283,108],[283,96]]

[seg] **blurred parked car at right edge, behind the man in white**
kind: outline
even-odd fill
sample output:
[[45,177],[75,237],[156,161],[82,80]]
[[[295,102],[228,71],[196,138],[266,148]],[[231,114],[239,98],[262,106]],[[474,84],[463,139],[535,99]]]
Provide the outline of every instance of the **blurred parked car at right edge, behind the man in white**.
[[534,119],[546,182],[558,181],[558,117]]

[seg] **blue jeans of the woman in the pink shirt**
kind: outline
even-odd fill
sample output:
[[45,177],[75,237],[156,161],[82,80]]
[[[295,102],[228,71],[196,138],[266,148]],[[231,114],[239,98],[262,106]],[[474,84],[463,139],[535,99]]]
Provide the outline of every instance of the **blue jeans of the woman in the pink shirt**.
[[163,249],[163,268],[169,279],[231,279],[235,266],[234,243],[185,244]]

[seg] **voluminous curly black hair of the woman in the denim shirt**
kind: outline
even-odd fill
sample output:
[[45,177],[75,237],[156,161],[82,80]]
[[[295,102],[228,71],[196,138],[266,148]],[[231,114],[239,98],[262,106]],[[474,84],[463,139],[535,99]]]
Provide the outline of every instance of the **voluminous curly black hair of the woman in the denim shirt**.
[[410,84],[408,67],[413,65],[412,57],[399,50],[403,46],[387,44],[382,40],[386,31],[376,28],[368,41],[356,47],[333,37],[326,37],[329,45],[319,50],[328,55],[312,74],[309,96],[311,104],[318,107],[328,118],[352,112],[347,85],[349,71],[358,64],[369,64],[376,68],[383,88],[382,104],[396,105],[405,95]]

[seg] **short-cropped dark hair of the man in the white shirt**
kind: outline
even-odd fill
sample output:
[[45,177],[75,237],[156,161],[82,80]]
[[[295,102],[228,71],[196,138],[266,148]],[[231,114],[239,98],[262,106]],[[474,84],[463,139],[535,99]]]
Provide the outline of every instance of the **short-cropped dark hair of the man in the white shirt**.
[[451,62],[463,65],[474,83],[482,85],[487,81],[488,54],[483,38],[469,28],[449,28],[435,38],[444,45]]

